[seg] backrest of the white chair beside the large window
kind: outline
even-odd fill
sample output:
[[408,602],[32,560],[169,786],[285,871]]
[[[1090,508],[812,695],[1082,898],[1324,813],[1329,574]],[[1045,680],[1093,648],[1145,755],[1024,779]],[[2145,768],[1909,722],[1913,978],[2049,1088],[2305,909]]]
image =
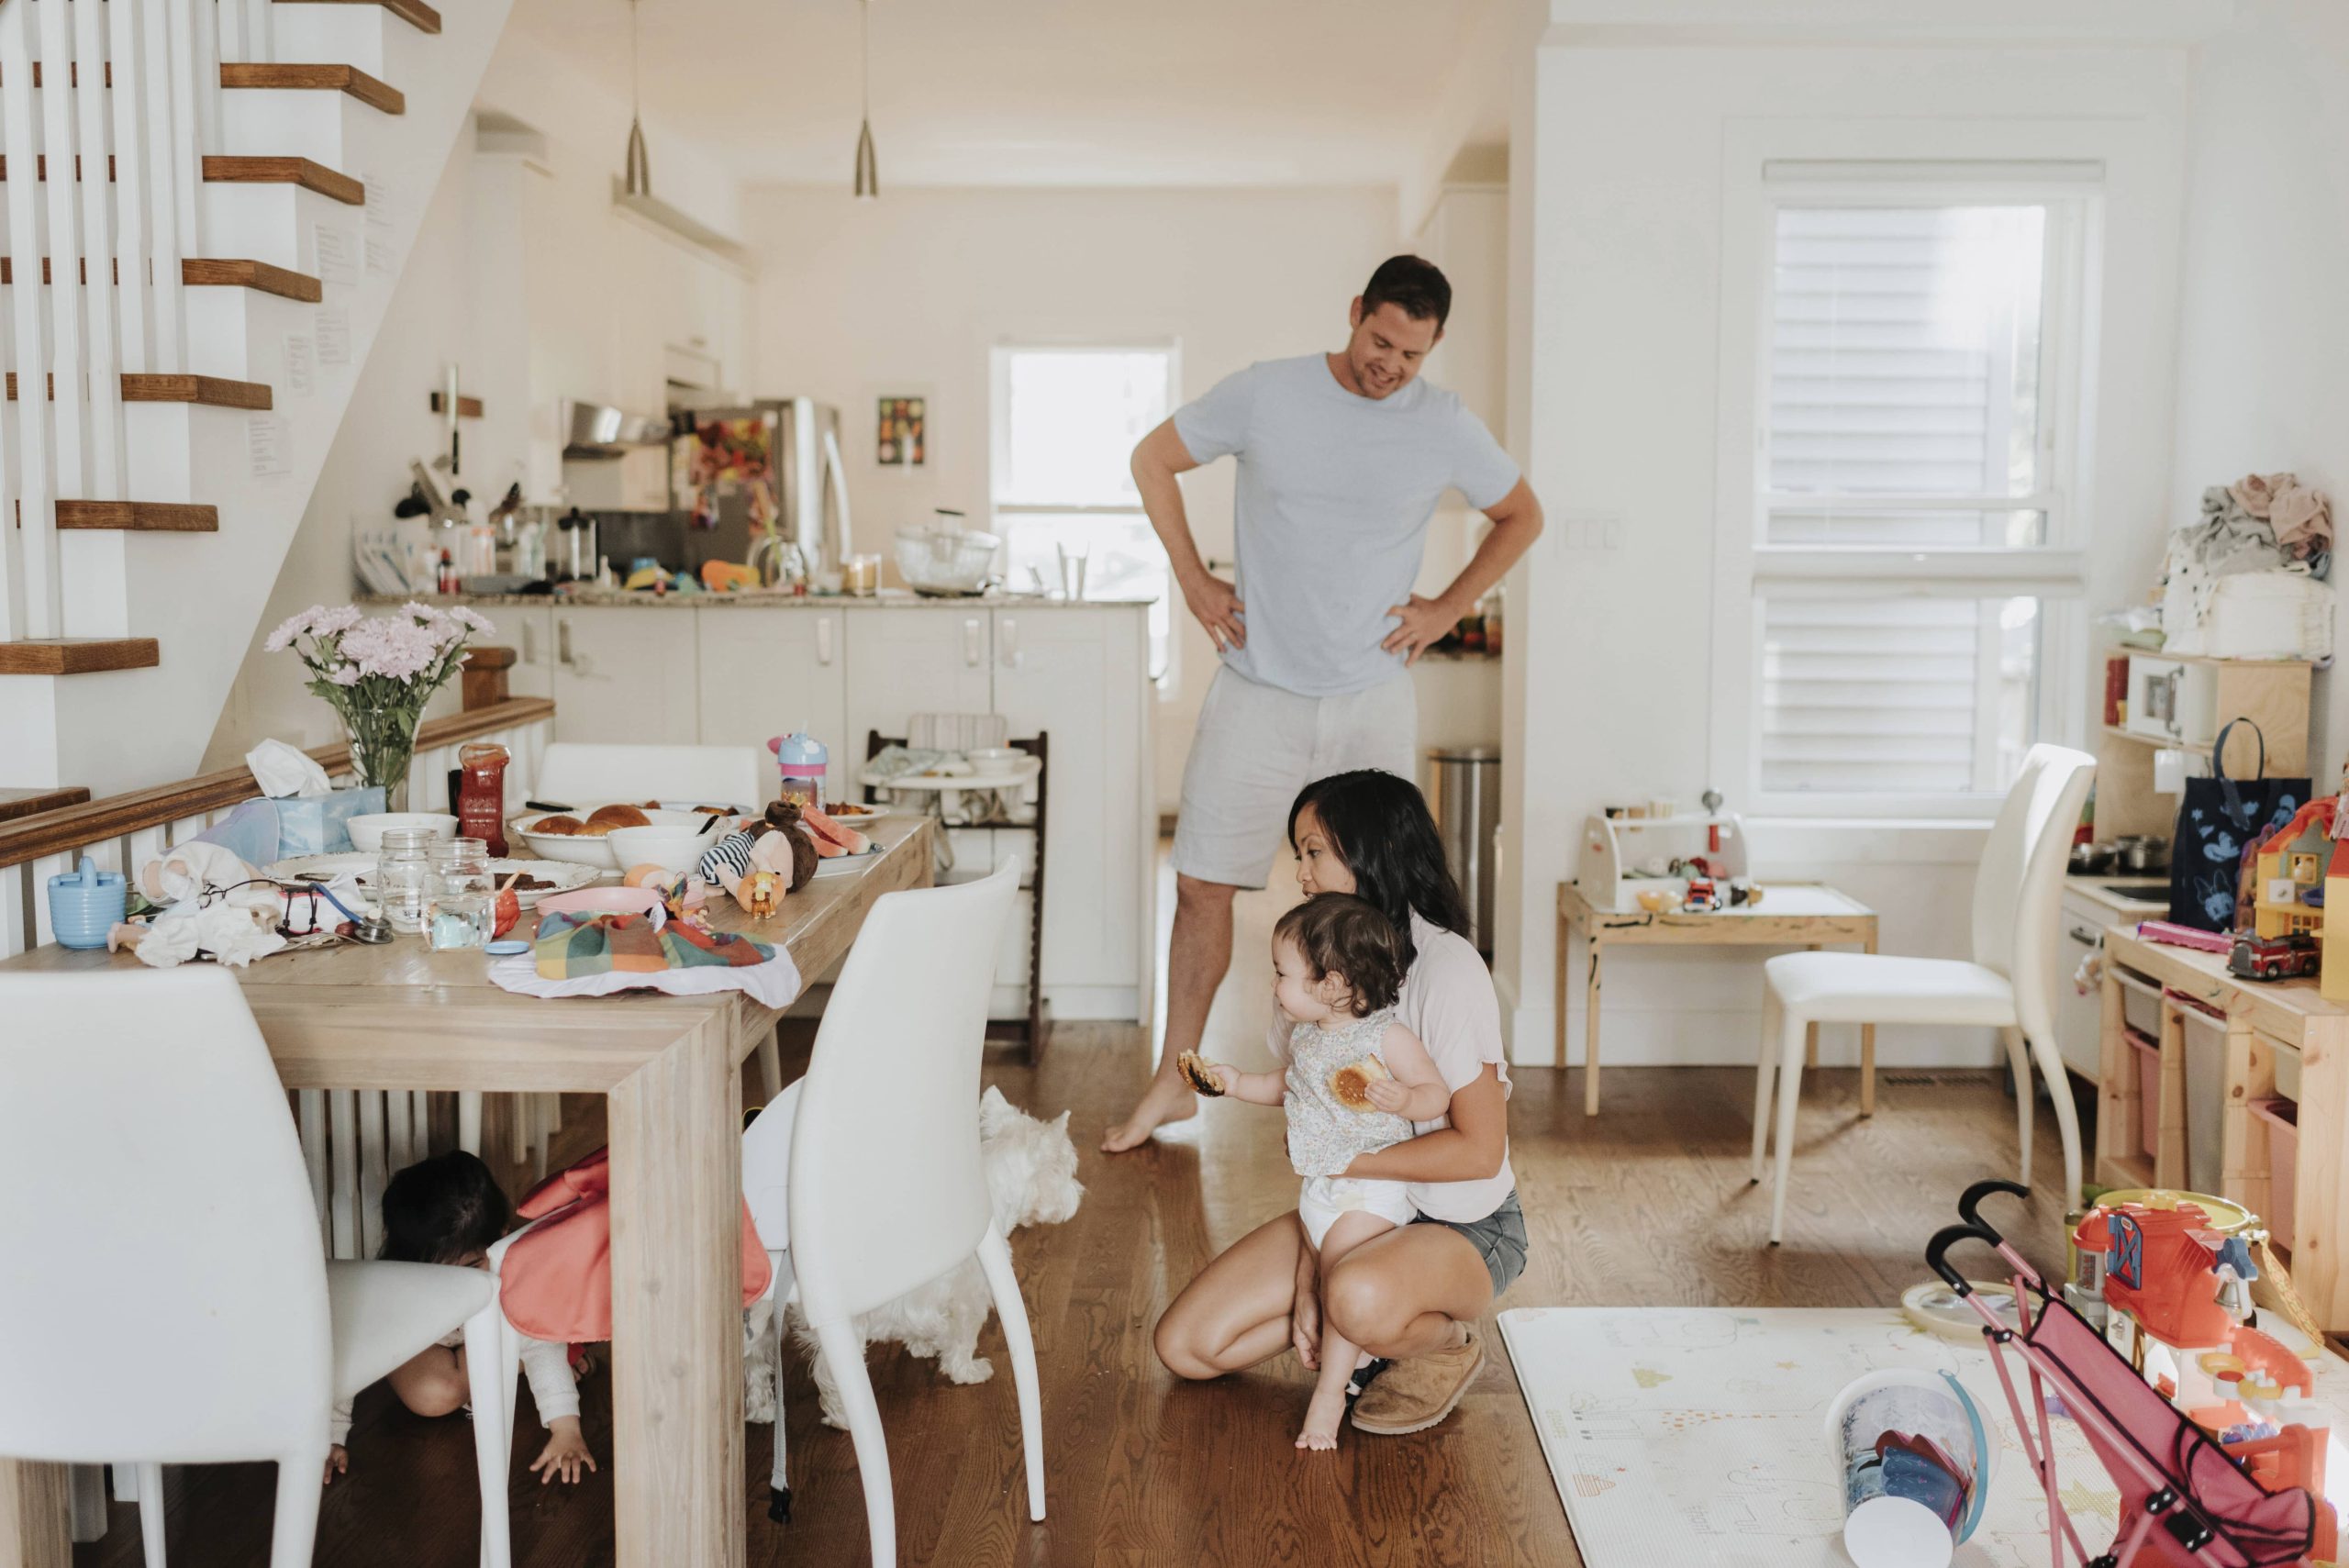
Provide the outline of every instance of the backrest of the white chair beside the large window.
[[2015,1016],[2032,1040],[2055,1038],[2062,876],[2093,779],[2086,751],[2032,746],[1973,873],[1973,962],[2013,981]]

